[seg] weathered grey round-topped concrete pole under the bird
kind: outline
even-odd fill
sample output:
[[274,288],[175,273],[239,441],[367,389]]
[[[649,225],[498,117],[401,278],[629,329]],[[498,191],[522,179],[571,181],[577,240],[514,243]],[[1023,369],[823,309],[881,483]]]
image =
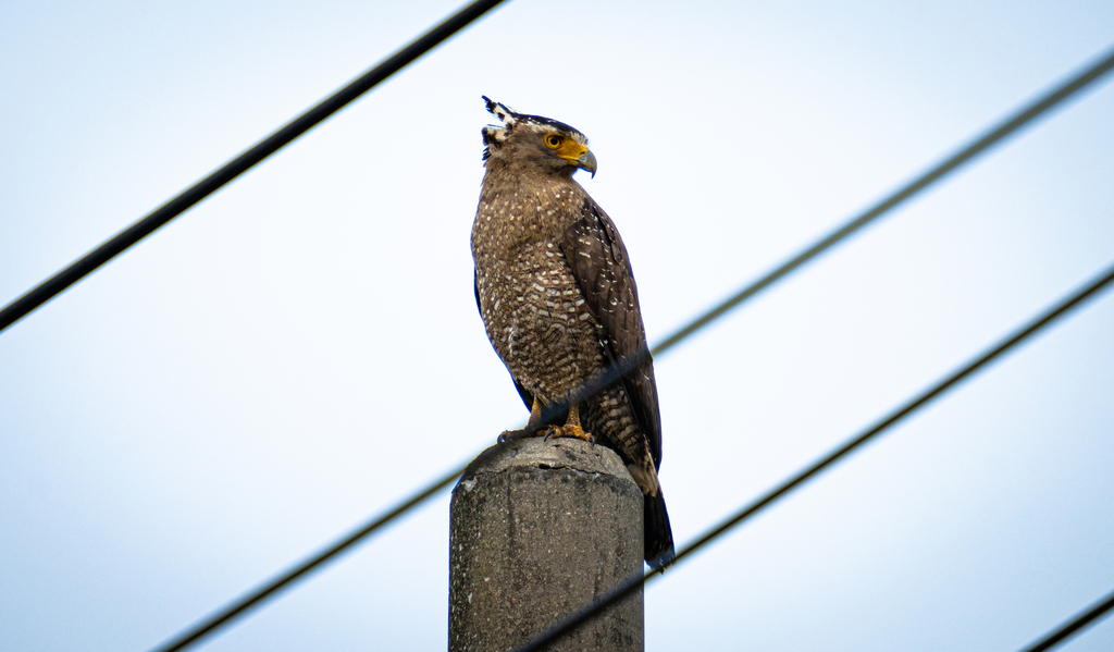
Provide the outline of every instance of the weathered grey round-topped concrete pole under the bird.
[[[450,652],[505,652],[643,567],[643,496],[608,448],[528,438],[491,447],[452,492]],[[643,650],[642,592],[557,641]]]

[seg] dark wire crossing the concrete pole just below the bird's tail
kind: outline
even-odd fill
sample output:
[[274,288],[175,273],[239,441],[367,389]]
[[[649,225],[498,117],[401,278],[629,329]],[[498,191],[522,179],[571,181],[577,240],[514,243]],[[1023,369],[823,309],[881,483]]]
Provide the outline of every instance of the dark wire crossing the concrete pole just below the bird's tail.
[[1105,289],[1107,285],[1110,285],[1112,281],[1114,281],[1114,264],[1112,264],[1104,272],[1102,272],[1102,274],[1100,274],[1098,276],[1087,282],[1082,288],[1074,291],[1067,298],[1063,299],[1052,308],[1047,309],[1044,313],[1032,319],[1028,323],[1019,327],[1017,330],[1015,330],[1012,334],[1007,335],[1005,339],[999,341],[997,344],[994,344],[993,347],[990,347],[989,349],[987,349],[986,351],[974,358],[971,361],[967,362],[966,364],[964,364],[962,367],[960,367],[959,369],[957,369],[956,371],[954,371],[952,373],[950,373],[949,376],[947,376],[946,378],[934,385],[928,390],[910,399],[900,408],[890,412],[888,416],[877,421],[873,426],[867,428],[867,430],[864,430],[860,435],[857,435],[856,437],[851,438],[850,440],[841,445],[839,448],[836,448],[824,457],[814,461],[812,465],[808,466],[803,470],[797,473],[795,475],[784,480],[782,484],[778,485],[776,487],[774,487],[773,489],[771,489],[756,500],[744,506],[742,509],[740,509],[729,518],[724,519],[715,527],[707,531],[700,538],[697,538],[693,543],[682,548],[681,552],[678,552],[676,556],[673,558],[673,561],[667,563],[666,566],[654,568],[653,567],[654,565],[651,564],[652,570],[648,571],[645,575],[643,575],[642,573],[637,573],[626,577],[625,580],[618,582],[613,587],[602,593],[599,596],[597,596],[595,600],[593,600],[585,606],[573,612],[570,615],[565,616],[563,620],[549,626],[534,639],[530,639],[521,648],[517,648],[515,652],[532,652],[535,650],[539,650],[544,645],[554,642],[558,636],[571,631],[573,629],[580,625],[583,622],[595,616],[596,614],[598,614],[609,605],[614,604],[615,602],[618,602],[625,596],[634,593],[635,591],[638,591],[651,578],[663,573],[665,571],[665,567],[673,566],[680,563],[682,559],[688,557],[690,555],[701,549],[705,545],[712,543],[727,531],[737,526],[740,523],[746,520],[751,516],[769,507],[778,499],[782,498],[790,492],[794,490],[795,488],[800,487],[808,480],[812,479],[821,471],[828,469],[830,466],[841,460],[842,458],[847,457],[852,451],[860,449],[864,444],[874,439],[880,434],[885,432],[888,428],[890,428],[895,424],[898,424],[899,421],[901,421],[909,415],[913,413],[918,409],[925,407],[934,399],[938,398],[939,396],[941,396],[942,393],[945,393],[946,391],[948,391],[949,389],[961,382],[962,380],[967,379],[969,376],[971,376],[973,373],[975,373],[989,362],[998,359],[999,357],[1001,357],[1003,353],[1009,351],[1020,342],[1025,341],[1027,338],[1029,338],[1040,329],[1045,328],[1059,317],[1063,317],[1064,313],[1066,313],[1067,311],[1072,310],[1073,308],[1076,308],[1085,300],[1095,296],[1100,290]]

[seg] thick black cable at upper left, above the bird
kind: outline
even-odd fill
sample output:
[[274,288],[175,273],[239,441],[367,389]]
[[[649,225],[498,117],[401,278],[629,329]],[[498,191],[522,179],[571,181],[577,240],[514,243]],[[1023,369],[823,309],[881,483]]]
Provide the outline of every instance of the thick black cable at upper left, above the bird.
[[185,213],[195,204],[218,191],[225,184],[251,169],[292,140],[317,126],[326,118],[348,106],[381,81],[394,75],[418,57],[439,46],[442,41],[477,20],[504,0],[476,0],[444,19],[410,45],[383,59],[348,86],[323,99],[313,108],[297,116],[277,132],[260,140],[250,149],[226,163],[207,177],[186,188],[173,200],[148,213],[145,217],[85,254],[68,267],[29,290],[19,299],[0,310],[0,332],[16,323],[43,303],[50,301],[67,288],[77,283],[97,267],[104,265],[128,247],[147,237],[167,222]]

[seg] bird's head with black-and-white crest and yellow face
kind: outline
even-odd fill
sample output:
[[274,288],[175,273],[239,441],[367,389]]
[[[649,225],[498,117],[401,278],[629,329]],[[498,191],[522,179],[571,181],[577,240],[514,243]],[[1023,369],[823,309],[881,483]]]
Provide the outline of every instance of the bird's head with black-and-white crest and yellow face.
[[502,163],[564,176],[587,169],[596,176],[596,157],[580,132],[541,116],[516,114],[487,97],[483,101],[488,111],[502,121],[501,126],[483,127],[483,160],[489,167]]

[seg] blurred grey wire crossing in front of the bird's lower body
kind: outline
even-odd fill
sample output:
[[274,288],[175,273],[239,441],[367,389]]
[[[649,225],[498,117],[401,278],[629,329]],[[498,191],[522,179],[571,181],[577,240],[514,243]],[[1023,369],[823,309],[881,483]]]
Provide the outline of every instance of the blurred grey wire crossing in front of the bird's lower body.
[[[755,294],[760,293],[766,288],[773,285],[776,281],[788,275],[790,272],[797,270],[798,267],[807,263],[809,260],[815,257],[823,251],[830,249],[840,240],[848,237],[854,231],[862,227],[870,220],[874,220],[881,216],[883,213],[895,208],[898,204],[910,198],[916,193],[924,191],[932,183],[944,177],[947,173],[960,166],[962,163],[970,160],[980,152],[986,150],[995,143],[1000,142],[1009,134],[1025,126],[1027,123],[1033,121],[1034,119],[1039,117],[1043,113],[1048,111],[1056,104],[1059,104],[1069,98],[1072,95],[1078,93],[1088,84],[1092,84],[1093,81],[1098,79],[1102,75],[1110,71],[1112,67],[1114,67],[1114,50],[1112,50],[1105,58],[1101,59],[1097,64],[1087,67],[1082,72],[1072,77],[1061,86],[1055,87],[1053,90],[1046,93],[1044,96],[1037,98],[1036,100],[1033,100],[1025,108],[1016,111],[1014,114],[1014,117],[1003,120],[1001,123],[999,123],[997,127],[993,127],[990,130],[986,132],[985,135],[978,137],[976,140],[971,142],[969,145],[965,146],[962,149],[960,149],[952,156],[945,159],[942,164],[937,165],[929,172],[922,174],[915,181],[908,183],[906,186],[900,188],[895,194],[890,195],[888,198],[880,202],[878,205],[869,210],[867,213],[863,213],[861,216],[856,217],[844,226],[832,232],[827,237],[820,240],[815,244],[803,250],[798,255],[793,256],[792,259],[790,259],[782,265],[778,266],[766,275],[753,282],[751,285],[744,288],[733,296],[729,298],[724,302],[720,303],[719,305],[712,308],[701,317],[696,318],[687,325],[685,325],[681,330],[676,331],[675,333],[666,338],[665,341],[657,344],[657,347],[655,347],[653,351],[647,350],[646,348],[642,348],[638,351],[635,351],[634,353],[620,358],[610,367],[604,369],[596,376],[593,376],[587,381],[585,381],[583,386],[570,391],[561,401],[558,401],[553,406],[549,406],[548,408],[543,410],[543,419],[540,420],[540,422],[545,424],[551,420],[560,412],[567,410],[568,406],[571,405],[573,402],[579,402],[580,400],[583,400],[584,397],[590,396],[593,392],[598,391],[599,389],[606,387],[610,382],[614,382],[628,371],[643,364],[644,362],[651,359],[652,353],[659,354],[668,351],[674,346],[678,344],[682,340],[688,338],[690,335],[692,335],[700,329],[704,328],[709,323],[726,314],[731,309],[736,308],[742,302],[754,296]],[[255,592],[245,594],[237,602],[208,616],[199,624],[190,627],[188,631],[192,632],[201,630],[205,625],[205,623],[216,622],[217,620],[219,620],[218,625],[227,623],[234,616],[240,615],[241,613],[246,611],[248,606],[257,604],[264,597],[271,596],[276,591],[287,586],[293,580],[300,578],[305,573],[309,573],[310,571],[320,567],[322,564],[330,561],[336,554],[343,552],[344,549],[348,549],[350,546],[359,543],[361,539],[371,536],[372,534],[375,533],[375,531],[388,525],[394,518],[404,515],[410,509],[417,507],[424,500],[429,499],[430,497],[436,495],[437,492],[439,492],[441,488],[446,487],[449,483],[451,483],[452,479],[463,474],[466,467],[467,465],[462,465],[451,470],[449,474],[444,475],[441,479],[437,480],[434,484],[413,494],[411,498],[401,504],[404,505],[405,508],[398,508],[395,510],[392,510],[391,513],[384,515],[383,517],[374,520],[372,525],[354,531],[352,535],[342,539],[344,542],[343,545],[338,545],[324,549],[319,555],[315,555],[314,557],[304,562],[303,564],[295,566],[293,571],[289,571],[287,573],[281,575],[278,578],[263,584]],[[295,571],[302,568],[302,566],[305,566],[304,570],[299,571],[295,574]],[[235,609],[235,606],[238,604],[244,604],[245,607]],[[234,609],[235,613],[231,613]],[[227,617],[224,617],[225,614],[228,614]],[[184,638],[185,634],[183,634],[182,636]],[[179,640],[179,638],[175,638],[174,640]],[[183,648],[157,648],[156,651],[170,652],[172,650],[182,650],[182,649]]]

